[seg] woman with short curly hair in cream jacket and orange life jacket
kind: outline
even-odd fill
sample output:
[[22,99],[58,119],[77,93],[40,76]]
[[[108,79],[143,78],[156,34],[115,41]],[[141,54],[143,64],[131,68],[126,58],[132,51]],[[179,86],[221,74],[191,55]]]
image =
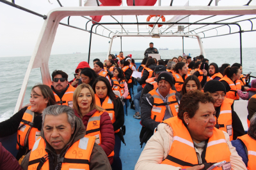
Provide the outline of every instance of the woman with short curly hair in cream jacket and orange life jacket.
[[[179,106],[178,117],[159,124],[135,166],[143,169],[207,169],[226,161],[215,169],[246,169],[226,132],[214,127],[214,99],[211,94],[191,91]],[[210,163],[211,162],[211,163]]]

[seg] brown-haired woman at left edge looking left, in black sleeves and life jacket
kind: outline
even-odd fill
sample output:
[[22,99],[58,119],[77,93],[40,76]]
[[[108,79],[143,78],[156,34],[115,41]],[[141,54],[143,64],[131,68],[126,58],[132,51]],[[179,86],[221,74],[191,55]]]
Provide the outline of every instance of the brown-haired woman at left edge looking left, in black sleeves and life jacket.
[[36,139],[41,136],[42,111],[56,103],[54,94],[47,85],[35,85],[30,95],[29,106],[0,123],[0,138],[17,132],[17,160],[26,155],[33,148]]

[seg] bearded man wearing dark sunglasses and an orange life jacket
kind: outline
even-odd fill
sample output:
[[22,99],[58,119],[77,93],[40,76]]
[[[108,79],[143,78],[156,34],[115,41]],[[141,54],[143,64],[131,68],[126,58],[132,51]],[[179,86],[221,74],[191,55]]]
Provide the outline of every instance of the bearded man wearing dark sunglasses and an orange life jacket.
[[76,88],[68,84],[67,73],[61,70],[54,70],[52,72],[51,89],[57,104],[73,107],[73,93]]

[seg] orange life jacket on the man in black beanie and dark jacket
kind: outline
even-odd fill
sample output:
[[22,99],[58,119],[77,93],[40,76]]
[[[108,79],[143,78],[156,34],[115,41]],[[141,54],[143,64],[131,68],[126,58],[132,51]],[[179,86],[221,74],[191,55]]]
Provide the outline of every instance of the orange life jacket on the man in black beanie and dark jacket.
[[170,89],[168,96],[166,96],[168,98],[167,103],[164,103],[161,96],[157,94],[156,89],[153,89],[148,93],[151,94],[151,96],[154,98],[154,103],[151,110],[151,118],[153,120],[155,120],[156,122],[163,121],[166,106],[168,107],[170,113],[172,111],[173,117],[177,116],[177,113],[179,111],[179,104],[175,96],[175,90]]

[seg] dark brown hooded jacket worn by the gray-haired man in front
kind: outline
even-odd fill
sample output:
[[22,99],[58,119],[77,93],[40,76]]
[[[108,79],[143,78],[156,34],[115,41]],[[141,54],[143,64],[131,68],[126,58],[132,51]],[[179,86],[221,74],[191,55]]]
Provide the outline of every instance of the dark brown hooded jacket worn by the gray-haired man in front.
[[[68,146],[73,145],[76,141],[78,141],[79,139],[84,137],[86,130],[85,130],[82,120],[78,117],[76,117],[75,128],[76,129],[74,131],[74,134],[72,134],[69,143],[62,149],[62,151],[60,153],[60,157],[63,157],[65,155],[65,151],[67,150]],[[42,139],[45,140],[43,128],[41,129],[41,135],[42,135]],[[50,165],[49,169],[53,170],[57,166],[58,155],[56,154],[55,150],[52,148],[51,145],[49,145],[49,143],[46,140],[45,140],[45,143],[46,143],[45,151],[49,154],[49,165]],[[29,156],[30,156],[30,152],[22,160],[21,167],[23,168],[23,170],[28,169]],[[90,161],[89,161],[89,167],[90,167],[90,169],[93,169],[93,170],[104,170],[104,169],[111,170],[111,166],[109,164],[108,157],[106,156],[106,153],[96,143],[93,146],[92,154],[91,154]],[[56,169],[56,170],[60,170],[60,169],[61,168]]]

